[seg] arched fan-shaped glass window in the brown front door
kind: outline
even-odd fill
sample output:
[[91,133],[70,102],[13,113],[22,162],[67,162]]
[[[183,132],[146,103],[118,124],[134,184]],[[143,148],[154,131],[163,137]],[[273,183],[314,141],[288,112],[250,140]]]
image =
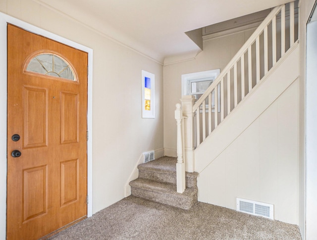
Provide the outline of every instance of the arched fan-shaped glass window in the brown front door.
[[55,54],[45,53],[35,56],[26,70],[76,81],[70,64]]

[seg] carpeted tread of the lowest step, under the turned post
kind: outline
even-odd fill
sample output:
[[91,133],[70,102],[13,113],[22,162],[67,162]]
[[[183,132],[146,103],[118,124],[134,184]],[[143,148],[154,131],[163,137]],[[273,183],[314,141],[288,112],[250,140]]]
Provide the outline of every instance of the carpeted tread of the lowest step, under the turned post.
[[143,189],[151,190],[151,191],[160,191],[160,192],[168,193],[171,195],[193,196],[195,193],[197,193],[196,188],[186,188],[183,193],[178,193],[176,191],[175,184],[158,182],[158,181],[149,180],[149,179],[136,179],[131,181],[129,184],[132,187],[143,188]]

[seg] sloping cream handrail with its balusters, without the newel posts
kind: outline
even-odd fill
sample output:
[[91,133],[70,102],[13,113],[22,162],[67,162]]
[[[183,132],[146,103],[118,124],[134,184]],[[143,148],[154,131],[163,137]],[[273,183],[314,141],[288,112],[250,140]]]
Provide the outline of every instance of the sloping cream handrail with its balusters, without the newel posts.
[[192,108],[196,116],[196,147],[297,41],[297,5],[293,1],[275,7],[197,100]]

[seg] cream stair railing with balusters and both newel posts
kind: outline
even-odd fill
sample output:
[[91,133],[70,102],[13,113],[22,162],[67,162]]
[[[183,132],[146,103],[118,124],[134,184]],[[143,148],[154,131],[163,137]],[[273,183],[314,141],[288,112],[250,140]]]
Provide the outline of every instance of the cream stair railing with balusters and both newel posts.
[[188,172],[195,171],[194,149],[254,91],[254,87],[297,41],[298,0],[271,10],[199,100],[183,96],[182,109],[180,104],[176,104],[177,192],[185,190],[185,167]]

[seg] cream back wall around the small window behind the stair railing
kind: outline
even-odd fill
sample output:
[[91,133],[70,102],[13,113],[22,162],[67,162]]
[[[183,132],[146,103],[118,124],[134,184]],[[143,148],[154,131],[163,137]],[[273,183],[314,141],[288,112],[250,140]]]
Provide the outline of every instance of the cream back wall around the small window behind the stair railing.
[[240,50],[255,29],[245,30],[204,41],[204,51],[195,60],[164,66],[164,149],[165,155],[176,156],[176,121],[174,111],[181,99],[181,75],[220,68]]

